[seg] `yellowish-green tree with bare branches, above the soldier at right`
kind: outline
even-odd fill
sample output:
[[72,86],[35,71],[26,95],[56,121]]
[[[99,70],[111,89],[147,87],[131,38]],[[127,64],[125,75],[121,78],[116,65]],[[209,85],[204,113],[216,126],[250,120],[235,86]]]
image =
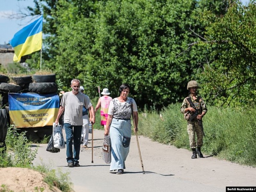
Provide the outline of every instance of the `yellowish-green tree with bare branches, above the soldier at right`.
[[199,47],[212,50],[212,60],[200,75],[202,93],[217,106],[255,105],[256,4],[230,5],[227,13],[205,12],[204,40]]

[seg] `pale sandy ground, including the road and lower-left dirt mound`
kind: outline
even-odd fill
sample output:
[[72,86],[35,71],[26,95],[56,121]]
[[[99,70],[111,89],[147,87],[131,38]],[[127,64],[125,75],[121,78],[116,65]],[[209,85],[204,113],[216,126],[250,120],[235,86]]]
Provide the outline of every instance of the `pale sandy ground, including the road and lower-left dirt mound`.
[[[131,139],[125,174],[111,174],[109,164],[105,164],[102,160],[102,143],[103,131],[94,130],[93,150],[90,140],[88,144],[90,148],[81,149],[80,167],[67,167],[66,149],[52,154],[46,151],[47,144],[38,147],[38,154],[33,163],[50,164],[52,169],[69,172],[76,192],[113,192],[119,191],[120,188],[123,192],[224,192],[226,186],[256,186],[255,168],[218,160],[207,155],[205,158],[191,159],[191,151],[163,145],[141,136],[139,144],[145,174],[142,174],[135,136]],[[41,174],[29,169],[0,169],[0,183],[14,192],[36,191],[35,187],[44,188],[44,192],[54,191],[47,187],[42,178]]]

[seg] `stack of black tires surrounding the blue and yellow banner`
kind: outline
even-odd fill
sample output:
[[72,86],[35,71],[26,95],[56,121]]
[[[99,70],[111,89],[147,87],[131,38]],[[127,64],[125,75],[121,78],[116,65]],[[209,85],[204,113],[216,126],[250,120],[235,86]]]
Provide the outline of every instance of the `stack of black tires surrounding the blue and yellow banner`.
[[[5,131],[6,134],[7,134],[7,122],[10,124],[8,93],[48,94],[48,93],[57,93],[57,90],[58,90],[57,84],[55,83],[56,81],[55,74],[33,75],[33,76],[30,76],[30,75],[13,76],[11,78],[14,83],[8,83],[9,82],[8,76],[0,75],[0,94],[3,99],[2,106],[5,106],[5,112],[2,112],[2,113],[3,113],[3,116],[7,117],[6,125],[4,125],[6,126],[6,128],[4,128],[6,130]],[[0,123],[1,123],[1,119],[0,119]],[[2,128],[3,128],[3,125],[0,124],[0,134],[2,133],[1,131]],[[41,140],[44,138],[45,135],[48,137],[52,134],[52,126],[45,126],[41,128],[19,128],[19,130],[26,131],[27,138],[33,141]],[[5,137],[6,137],[6,134],[5,134]],[[2,139],[2,137],[0,137],[0,139]],[[1,144],[1,140],[0,140],[0,144]]]

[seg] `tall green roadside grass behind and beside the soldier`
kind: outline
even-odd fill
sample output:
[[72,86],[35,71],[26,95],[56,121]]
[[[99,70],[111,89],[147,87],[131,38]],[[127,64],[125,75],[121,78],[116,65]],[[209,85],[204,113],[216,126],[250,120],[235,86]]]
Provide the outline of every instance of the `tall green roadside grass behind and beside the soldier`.
[[[162,114],[163,120],[160,119]],[[208,107],[204,116],[204,154],[256,167],[256,112],[234,108]],[[164,110],[139,113],[139,134],[177,148],[189,149],[186,121],[180,104]]]

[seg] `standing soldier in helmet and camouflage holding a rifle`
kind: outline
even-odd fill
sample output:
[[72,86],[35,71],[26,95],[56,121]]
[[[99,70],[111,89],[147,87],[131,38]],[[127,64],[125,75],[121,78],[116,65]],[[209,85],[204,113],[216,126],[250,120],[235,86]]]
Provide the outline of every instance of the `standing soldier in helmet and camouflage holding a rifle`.
[[[204,158],[201,153],[201,147],[203,145],[203,124],[202,118],[207,113],[207,107],[201,96],[197,95],[198,83],[196,81],[189,81],[187,84],[187,90],[189,90],[189,96],[183,100],[180,111],[184,114],[184,118],[187,120],[187,131],[189,134],[189,145],[192,149],[192,159]],[[195,142],[195,134],[197,142]]]

